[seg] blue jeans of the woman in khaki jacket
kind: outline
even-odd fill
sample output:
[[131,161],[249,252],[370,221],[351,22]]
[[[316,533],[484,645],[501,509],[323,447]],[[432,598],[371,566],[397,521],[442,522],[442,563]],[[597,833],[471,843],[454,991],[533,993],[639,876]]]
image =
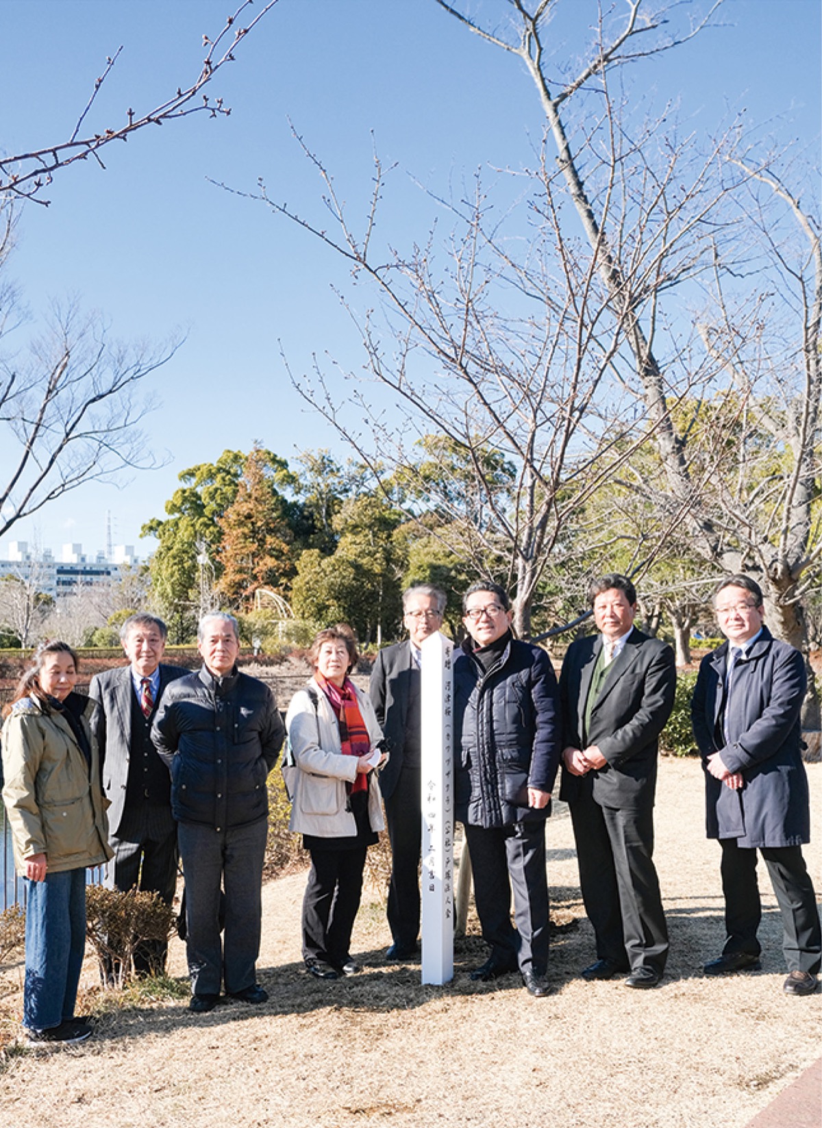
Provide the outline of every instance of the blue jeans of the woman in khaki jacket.
[[85,867],[26,879],[24,1026],[51,1030],[74,1017],[85,951]]

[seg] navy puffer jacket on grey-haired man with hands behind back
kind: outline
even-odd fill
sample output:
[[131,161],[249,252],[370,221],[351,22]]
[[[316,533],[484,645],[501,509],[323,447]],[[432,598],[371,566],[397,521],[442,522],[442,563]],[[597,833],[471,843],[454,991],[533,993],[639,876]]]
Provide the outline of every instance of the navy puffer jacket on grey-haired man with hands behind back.
[[284,733],[274,694],[257,678],[214,678],[203,667],[173,681],[151,739],[171,772],[175,819],[216,830],[264,819]]

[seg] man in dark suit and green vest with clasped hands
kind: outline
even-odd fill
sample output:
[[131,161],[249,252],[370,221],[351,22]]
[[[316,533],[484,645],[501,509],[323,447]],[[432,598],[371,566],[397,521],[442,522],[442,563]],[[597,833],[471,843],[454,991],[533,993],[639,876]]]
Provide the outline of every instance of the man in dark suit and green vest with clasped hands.
[[653,863],[659,735],[677,688],[673,652],[637,631],[636,590],[624,575],[590,591],[600,634],[572,643],[563,662],[563,782],[576,839],[580,885],[596,937],[583,978],[626,972],[655,987],[668,927]]

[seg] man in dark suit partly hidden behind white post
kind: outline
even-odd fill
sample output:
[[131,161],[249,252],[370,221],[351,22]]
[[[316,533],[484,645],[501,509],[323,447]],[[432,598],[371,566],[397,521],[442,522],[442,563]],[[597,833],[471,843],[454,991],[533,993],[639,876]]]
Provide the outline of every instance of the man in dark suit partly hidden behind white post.
[[445,592],[430,584],[408,588],[403,593],[408,638],[381,650],[371,675],[371,702],[390,751],[380,775],[391,843],[388,924],[394,941],[386,952],[389,960],[406,960],[417,950],[422,846],[419,647],[442,626],[445,601]]

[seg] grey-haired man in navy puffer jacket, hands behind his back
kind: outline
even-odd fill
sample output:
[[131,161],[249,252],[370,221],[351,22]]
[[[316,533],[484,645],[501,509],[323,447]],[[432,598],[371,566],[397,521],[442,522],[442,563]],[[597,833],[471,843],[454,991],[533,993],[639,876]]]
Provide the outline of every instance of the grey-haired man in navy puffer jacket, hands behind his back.
[[171,772],[171,809],[186,880],[189,1007],[203,1013],[214,1007],[223,982],[227,995],[246,1003],[268,997],[256,982],[266,778],[284,728],[271,689],[237,670],[240,643],[231,615],[201,619],[197,649],[202,670],[168,687],[151,739]]

